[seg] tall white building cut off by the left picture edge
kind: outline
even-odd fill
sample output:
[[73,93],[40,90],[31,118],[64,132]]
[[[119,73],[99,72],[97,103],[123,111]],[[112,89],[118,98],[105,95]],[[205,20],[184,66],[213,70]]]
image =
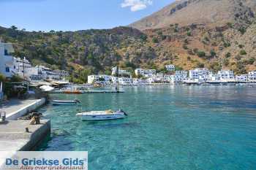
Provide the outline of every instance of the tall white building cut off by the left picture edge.
[[14,53],[12,44],[0,41],[0,73],[5,77],[12,77],[15,74],[14,58],[11,53]]

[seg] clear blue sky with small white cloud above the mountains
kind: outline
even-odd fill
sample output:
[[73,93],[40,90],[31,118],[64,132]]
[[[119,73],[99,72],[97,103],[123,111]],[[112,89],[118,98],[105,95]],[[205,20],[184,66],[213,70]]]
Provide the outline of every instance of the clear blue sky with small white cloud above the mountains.
[[127,26],[174,0],[0,0],[0,26],[76,31]]

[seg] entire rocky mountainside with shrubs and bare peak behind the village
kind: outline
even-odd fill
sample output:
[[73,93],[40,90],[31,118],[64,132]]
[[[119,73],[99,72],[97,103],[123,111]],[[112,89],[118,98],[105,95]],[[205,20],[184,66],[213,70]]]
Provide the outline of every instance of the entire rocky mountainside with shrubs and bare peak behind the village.
[[0,27],[0,39],[16,56],[34,64],[67,69],[72,80],[110,74],[119,65],[166,72],[207,67],[236,74],[256,70],[255,0],[182,0],[133,23],[105,30],[29,32]]

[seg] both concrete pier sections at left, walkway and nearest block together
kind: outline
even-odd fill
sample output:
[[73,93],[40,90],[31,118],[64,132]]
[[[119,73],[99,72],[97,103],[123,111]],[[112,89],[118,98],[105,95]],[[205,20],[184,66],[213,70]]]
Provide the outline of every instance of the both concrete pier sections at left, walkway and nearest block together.
[[[0,112],[7,113],[7,121],[0,123],[0,150],[33,150],[42,139],[50,134],[50,120],[41,120],[39,125],[29,125],[30,121],[17,120],[45,104],[45,98],[10,100],[1,104]],[[29,128],[29,132],[26,132]]]

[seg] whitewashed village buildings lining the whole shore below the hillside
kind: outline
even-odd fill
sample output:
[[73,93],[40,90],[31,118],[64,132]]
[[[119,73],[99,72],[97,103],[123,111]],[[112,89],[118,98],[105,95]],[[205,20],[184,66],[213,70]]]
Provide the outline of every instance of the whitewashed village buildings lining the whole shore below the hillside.
[[[21,77],[33,85],[72,85],[68,82],[69,72],[52,70],[45,66],[32,66],[26,57],[12,56],[14,48],[11,43],[0,42],[0,73],[4,77]],[[50,82],[50,83],[49,83]],[[206,68],[196,68],[189,71],[177,70],[174,65],[165,66],[164,72],[156,69],[135,69],[135,75],[128,70],[113,67],[112,74],[94,74],[88,76],[90,85],[151,85],[151,84],[185,84],[185,85],[235,85],[254,84],[256,71],[248,74],[235,75],[232,70],[211,72]],[[47,90],[53,88],[47,88]],[[1,83],[0,99],[4,98]]]

